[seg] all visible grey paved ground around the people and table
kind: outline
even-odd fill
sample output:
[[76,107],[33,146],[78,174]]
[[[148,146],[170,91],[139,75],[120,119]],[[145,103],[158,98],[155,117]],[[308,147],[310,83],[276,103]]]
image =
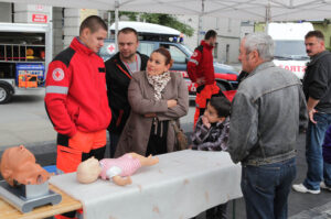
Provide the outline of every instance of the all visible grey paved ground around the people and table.
[[[0,106],[0,155],[6,147],[24,144],[35,154],[38,162],[45,165],[55,164],[56,133],[47,119],[43,103],[43,90],[32,96],[21,94],[9,105]],[[182,128],[186,133],[192,132],[194,107],[190,108],[186,117],[181,119]],[[302,182],[306,174],[305,134],[298,142],[298,175],[296,183]],[[232,204],[228,206],[228,218],[232,218]],[[199,219],[204,218],[201,213]],[[236,200],[236,218],[244,219],[244,200]],[[331,218],[331,193],[322,191],[319,195],[299,194],[291,191],[289,196],[290,219],[327,219]]]

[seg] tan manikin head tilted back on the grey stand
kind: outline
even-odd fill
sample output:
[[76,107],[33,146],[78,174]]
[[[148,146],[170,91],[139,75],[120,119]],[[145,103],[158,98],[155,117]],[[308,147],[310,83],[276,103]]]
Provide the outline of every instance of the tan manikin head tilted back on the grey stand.
[[2,177],[11,186],[45,183],[51,174],[35,163],[34,155],[23,145],[7,149],[1,158]]

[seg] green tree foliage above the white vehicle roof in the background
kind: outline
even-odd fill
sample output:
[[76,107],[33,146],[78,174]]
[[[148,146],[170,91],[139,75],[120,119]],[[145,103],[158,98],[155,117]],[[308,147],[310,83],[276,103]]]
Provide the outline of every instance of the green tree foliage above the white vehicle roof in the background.
[[[114,13],[111,13],[114,14]],[[180,22],[175,17],[163,13],[138,13],[138,12],[126,12],[120,11],[119,17],[126,15],[130,19],[130,21],[137,21],[140,15],[140,20],[145,20],[148,23],[156,23],[160,25],[166,25],[169,28],[173,28],[188,36],[192,36],[194,29],[185,23]],[[113,21],[115,18],[113,18]]]

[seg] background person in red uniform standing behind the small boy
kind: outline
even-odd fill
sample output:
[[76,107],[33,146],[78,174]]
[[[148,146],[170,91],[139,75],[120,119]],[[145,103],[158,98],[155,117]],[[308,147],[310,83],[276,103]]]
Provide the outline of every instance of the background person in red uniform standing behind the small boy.
[[215,81],[213,65],[213,48],[216,39],[217,33],[214,30],[209,30],[204,35],[204,41],[201,41],[188,62],[189,77],[196,85],[194,127],[199,117],[204,113],[211,97],[214,95],[222,96]]

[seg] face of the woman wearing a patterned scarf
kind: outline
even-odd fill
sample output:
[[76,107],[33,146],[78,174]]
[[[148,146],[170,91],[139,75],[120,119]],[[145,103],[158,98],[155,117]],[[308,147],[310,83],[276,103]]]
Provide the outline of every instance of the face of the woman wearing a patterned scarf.
[[149,75],[161,75],[168,72],[170,64],[166,64],[166,57],[161,53],[152,53],[147,62],[147,73]]

